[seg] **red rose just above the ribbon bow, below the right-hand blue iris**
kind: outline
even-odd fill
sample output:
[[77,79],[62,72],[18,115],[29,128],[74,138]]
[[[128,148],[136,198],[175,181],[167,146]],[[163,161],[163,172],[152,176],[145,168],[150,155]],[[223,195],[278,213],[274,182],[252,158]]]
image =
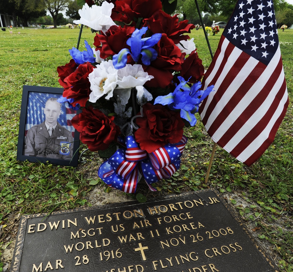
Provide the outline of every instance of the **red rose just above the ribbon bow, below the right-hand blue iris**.
[[166,144],[178,143],[183,135],[184,122],[180,112],[161,104],[147,103],[143,106],[144,117],[136,118],[139,129],[134,133],[141,149],[148,153]]

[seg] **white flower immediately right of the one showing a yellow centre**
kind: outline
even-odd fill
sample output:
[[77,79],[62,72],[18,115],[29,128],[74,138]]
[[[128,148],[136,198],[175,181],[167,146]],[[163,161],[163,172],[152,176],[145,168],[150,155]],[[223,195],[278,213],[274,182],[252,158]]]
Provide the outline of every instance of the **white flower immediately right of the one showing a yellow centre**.
[[118,86],[115,89],[115,95],[119,96],[122,99],[122,104],[126,105],[130,98],[131,89],[135,87],[139,98],[145,93],[147,100],[151,101],[153,97],[143,85],[152,78],[154,77],[144,72],[140,64],[126,64],[124,68],[118,69]]

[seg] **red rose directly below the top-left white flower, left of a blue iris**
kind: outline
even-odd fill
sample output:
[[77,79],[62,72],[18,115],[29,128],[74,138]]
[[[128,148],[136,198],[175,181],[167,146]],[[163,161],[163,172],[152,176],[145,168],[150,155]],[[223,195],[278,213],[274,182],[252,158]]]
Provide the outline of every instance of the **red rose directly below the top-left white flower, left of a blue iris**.
[[[119,53],[123,48],[128,48],[126,44],[128,38],[135,28],[133,26],[111,26],[106,34],[96,34],[93,45],[96,50],[100,50],[100,57],[105,59]],[[102,44],[102,46],[100,46]]]

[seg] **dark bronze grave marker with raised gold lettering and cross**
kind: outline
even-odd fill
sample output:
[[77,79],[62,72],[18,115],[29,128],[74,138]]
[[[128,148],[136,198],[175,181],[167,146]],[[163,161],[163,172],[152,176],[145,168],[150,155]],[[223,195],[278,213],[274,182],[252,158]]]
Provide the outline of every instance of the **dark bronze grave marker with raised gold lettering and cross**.
[[11,272],[275,271],[215,190],[22,217]]

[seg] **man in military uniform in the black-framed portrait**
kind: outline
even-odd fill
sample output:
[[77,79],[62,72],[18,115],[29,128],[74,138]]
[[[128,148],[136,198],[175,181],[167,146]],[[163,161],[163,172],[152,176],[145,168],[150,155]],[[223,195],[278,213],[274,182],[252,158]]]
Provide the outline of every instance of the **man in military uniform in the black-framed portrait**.
[[61,114],[61,104],[57,98],[46,101],[45,121],[28,130],[23,153],[26,156],[66,159],[72,158],[73,137],[69,130],[57,122]]

